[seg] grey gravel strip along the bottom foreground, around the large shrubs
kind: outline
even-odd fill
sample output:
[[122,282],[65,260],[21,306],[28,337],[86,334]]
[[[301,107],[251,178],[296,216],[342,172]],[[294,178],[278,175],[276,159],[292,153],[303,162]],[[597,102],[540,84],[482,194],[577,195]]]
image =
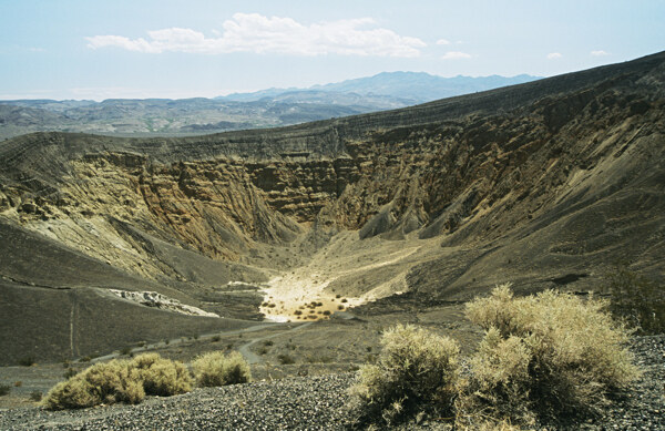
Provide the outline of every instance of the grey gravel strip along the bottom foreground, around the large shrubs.
[[[635,390],[580,430],[665,430],[665,336],[635,338],[644,369]],[[0,411],[1,430],[340,430],[348,428],[346,389],[352,373],[289,378],[151,397],[140,406],[51,412],[41,408]],[[446,429],[427,420],[402,429]],[[550,428],[552,430],[552,428]]]

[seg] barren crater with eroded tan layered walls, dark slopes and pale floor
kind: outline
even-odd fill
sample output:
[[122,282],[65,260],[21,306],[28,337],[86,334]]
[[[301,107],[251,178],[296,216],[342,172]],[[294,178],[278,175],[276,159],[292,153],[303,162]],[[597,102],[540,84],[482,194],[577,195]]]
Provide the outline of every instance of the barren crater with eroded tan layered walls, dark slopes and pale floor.
[[0,362],[396,294],[600,289],[616,261],[662,279],[664,150],[664,53],[276,130],[19,136],[0,143]]

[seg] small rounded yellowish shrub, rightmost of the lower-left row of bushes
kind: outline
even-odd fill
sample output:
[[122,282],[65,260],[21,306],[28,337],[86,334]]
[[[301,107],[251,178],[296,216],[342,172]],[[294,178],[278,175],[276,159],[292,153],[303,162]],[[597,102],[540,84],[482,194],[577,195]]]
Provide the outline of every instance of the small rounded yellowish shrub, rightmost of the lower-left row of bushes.
[[196,383],[202,387],[246,383],[252,380],[249,365],[237,351],[225,356],[222,351],[212,351],[200,356],[192,362]]

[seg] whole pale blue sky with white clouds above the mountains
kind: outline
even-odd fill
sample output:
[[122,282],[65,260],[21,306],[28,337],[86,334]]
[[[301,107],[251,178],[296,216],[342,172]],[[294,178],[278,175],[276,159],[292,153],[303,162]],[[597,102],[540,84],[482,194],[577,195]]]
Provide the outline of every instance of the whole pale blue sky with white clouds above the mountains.
[[390,71],[555,75],[665,50],[665,1],[0,0],[0,99],[215,96]]

